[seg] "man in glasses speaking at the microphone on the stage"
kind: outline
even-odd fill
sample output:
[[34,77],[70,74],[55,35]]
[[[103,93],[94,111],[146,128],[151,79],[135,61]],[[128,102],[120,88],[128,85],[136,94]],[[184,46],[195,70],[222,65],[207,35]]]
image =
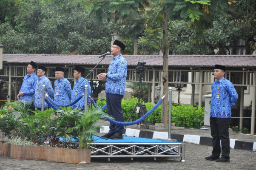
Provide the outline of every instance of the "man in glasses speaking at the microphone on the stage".
[[[97,75],[98,79],[106,79],[105,92],[108,107],[108,114],[114,116],[118,122],[123,122],[124,117],[122,113],[121,102],[125,94],[125,82],[127,76],[127,62],[122,56],[122,51],[125,45],[115,40],[111,48],[111,54],[114,56],[111,61],[108,73],[100,73]],[[102,137],[111,139],[123,139],[122,130],[123,125],[115,125],[110,123],[109,131]]]

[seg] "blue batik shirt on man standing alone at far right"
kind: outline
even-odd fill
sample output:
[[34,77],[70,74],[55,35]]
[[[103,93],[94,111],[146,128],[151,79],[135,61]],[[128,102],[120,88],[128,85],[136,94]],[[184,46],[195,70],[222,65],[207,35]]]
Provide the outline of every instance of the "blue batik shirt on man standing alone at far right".
[[232,82],[222,77],[211,85],[210,117],[231,118],[231,105],[235,105],[238,94]]

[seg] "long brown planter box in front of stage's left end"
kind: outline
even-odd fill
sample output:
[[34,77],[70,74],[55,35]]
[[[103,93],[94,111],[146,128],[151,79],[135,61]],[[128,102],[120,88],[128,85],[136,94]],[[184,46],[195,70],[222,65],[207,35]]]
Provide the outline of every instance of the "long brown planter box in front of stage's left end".
[[91,149],[11,145],[13,159],[54,161],[71,164],[91,163]]

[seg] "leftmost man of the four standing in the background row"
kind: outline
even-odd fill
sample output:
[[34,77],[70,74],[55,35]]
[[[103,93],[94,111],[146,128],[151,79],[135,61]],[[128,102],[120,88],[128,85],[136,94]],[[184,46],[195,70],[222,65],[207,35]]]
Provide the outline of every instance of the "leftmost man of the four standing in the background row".
[[34,73],[37,68],[37,64],[31,61],[27,66],[27,75],[23,79],[20,92],[17,95],[17,99],[25,101],[33,101],[35,94],[35,87],[37,82],[37,75]]

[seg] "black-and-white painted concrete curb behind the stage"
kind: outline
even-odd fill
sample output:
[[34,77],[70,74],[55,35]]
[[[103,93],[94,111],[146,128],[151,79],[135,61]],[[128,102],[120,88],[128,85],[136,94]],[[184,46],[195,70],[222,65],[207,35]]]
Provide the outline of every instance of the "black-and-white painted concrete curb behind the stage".
[[[108,126],[102,126],[102,127],[103,129],[100,130],[100,133],[108,133],[109,127]],[[125,128],[123,130],[123,134],[127,136],[134,136],[134,137],[148,138],[148,139],[168,139],[168,132],[157,132],[157,131]],[[171,133],[171,139],[176,139],[178,142],[187,142],[187,143],[193,143],[193,144],[203,144],[203,145],[212,146],[212,137],[207,137],[207,136],[183,135],[183,134]],[[230,139],[230,148],[256,151],[256,142],[246,142],[246,141],[240,141],[237,139]]]

